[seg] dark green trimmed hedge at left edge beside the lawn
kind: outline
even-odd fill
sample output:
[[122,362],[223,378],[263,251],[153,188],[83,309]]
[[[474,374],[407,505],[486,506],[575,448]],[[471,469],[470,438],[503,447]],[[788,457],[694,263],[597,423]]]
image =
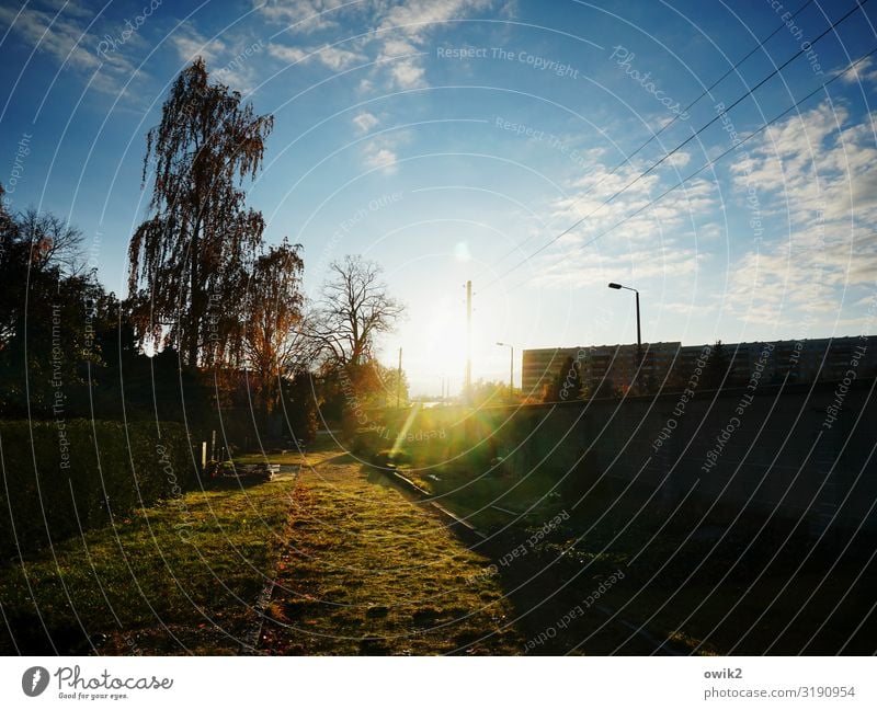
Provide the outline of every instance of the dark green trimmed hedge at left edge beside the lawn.
[[3,558],[196,488],[185,428],[159,426],[160,436],[155,422],[0,421]]

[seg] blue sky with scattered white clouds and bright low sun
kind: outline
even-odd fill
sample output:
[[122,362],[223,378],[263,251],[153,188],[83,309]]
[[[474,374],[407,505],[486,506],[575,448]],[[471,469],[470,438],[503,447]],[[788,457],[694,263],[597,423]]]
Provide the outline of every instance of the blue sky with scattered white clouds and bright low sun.
[[244,185],[266,242],[303,245],[310,298],[334,259],[381,264],[407,311],[379,354],[402,348],[413,393],[463,383],[469,279],[476,379],[508,378],[498,342],[516,385],[524,348],[636,342],[608,282],[640,291],[643,342],[874,334],[875,21],[854,0],[4,0],[0,183],[79,227],[124,295],[145,135],[201,56],[274,116]]

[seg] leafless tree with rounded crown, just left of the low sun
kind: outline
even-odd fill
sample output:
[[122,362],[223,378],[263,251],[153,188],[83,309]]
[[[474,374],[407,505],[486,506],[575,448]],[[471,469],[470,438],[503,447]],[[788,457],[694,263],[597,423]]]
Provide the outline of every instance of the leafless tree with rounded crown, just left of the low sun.
[[394,330],[405,307],[387,293],[376,262],[348,255],[329,268],[314,335],[332,364],[353,369],[373,358],[376,336]]

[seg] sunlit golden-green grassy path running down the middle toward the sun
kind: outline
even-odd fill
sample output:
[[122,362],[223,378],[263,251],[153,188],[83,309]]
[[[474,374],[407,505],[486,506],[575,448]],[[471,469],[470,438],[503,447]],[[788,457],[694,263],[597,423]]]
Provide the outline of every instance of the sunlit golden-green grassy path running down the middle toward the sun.
[[490,560],[351,457],[303,468],[259,650],[517,654]]

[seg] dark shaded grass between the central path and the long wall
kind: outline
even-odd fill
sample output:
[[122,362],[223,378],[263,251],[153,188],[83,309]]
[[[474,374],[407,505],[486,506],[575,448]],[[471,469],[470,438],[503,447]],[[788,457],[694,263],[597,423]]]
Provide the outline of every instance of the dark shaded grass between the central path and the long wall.
[[[684,507],[671,517],[667,504],[640,509],[642,492],[623,494],[608,484],[573,507],[569,493],[545,496],[550,481],[538,471],[523,480],[476,476],[458,463],[400,472],[489,534],[485,549],[494,560],[559,509],[569,513],[500,570],[519,625],[531,637],[624,570],[625,580],[600,599],[607,614],[578,617],[536,653],[651,653],[663,640],[671,651],[705,655],[874,652],[873,536],[858,536],[841,554],[850,532],[815,546],[794,520],[773,520],[755,538],[764,516],[745,513],[734,523],[740,512],[720,508],[698,527],[705,508]],[[486,507],[491,504],[517,515],[503,517]],[[696,528],[703,534],[692,537]]]

